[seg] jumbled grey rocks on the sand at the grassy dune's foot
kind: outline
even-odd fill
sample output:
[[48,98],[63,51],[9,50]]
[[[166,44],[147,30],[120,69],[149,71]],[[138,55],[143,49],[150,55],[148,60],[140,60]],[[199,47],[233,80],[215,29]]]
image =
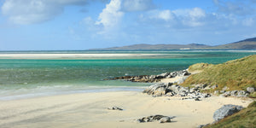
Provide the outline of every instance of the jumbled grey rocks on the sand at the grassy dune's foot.
[[210,94],[201,93],[200,89],[200,86],[189,89],[189,87],[183,87],[178,84],[156,83],[150,85],[146,90],[143,90],[143,93],[147,93],[152,96],[189,96],[189,98],[183,99],[197,99],[197,101],[199,98],[211,96]]

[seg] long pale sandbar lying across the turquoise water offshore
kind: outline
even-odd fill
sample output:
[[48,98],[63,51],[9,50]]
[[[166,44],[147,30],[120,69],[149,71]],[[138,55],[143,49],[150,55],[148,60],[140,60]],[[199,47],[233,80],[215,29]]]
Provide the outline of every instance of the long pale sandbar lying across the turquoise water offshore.
[[0,54],[1,59],[90,59],[104,57],[138,57],[165,54]]

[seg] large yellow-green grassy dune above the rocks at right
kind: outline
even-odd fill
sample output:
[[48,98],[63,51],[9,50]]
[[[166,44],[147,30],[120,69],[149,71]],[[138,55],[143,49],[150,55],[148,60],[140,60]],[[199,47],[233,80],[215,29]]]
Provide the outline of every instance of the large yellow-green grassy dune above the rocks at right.
[[201,73],[189,76],[182,85],[218,84],[218,88],[214,90],[222,90],[224,86],[230,90],[246,90],[247,87],[256,87],[256,55],[218,65],[200,63],[189,67],[190,72],[198,70]]

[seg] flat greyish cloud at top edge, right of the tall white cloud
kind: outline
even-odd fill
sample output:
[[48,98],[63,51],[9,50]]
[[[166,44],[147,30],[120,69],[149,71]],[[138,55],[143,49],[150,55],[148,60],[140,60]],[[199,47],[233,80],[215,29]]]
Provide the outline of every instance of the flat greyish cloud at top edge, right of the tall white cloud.
[[122,10],[127,12],[154,9],[152,0],[123,0]]

